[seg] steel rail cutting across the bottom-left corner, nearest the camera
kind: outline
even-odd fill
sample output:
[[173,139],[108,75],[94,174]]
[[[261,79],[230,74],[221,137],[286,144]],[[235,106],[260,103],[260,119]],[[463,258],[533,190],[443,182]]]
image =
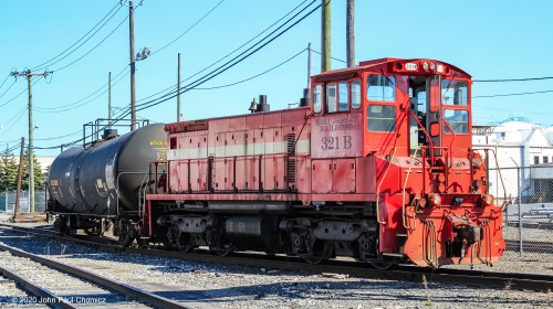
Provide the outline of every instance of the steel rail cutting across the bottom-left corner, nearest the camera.
[[[77,308],[77,307],[71,305],[70,302],[67,302],[63,297],[56,296],[55,294],[51,292],[50,290],[48,290],[48,289],[45,289],[36,284],[33,284],[31,280],[29,280],[22,276],[19,276],[18,274],[11,271],[8,268],[0,266],[0,273],[6,278],[11,279],[11,280],[15,281],[17,284],[19,284],[23,288],[23,290],[25,290],[27,292],[36,296],[38,297],[36,301],[35,301],[36,303],[46,305],[51,308],[63,308],[63,309]],[[25,297],[10,297],[10,298],[15,299],[15,300],[25,299]],[[20,302],[15,301],[13,305],[18,306],[18,305],[20,305]],[[24,305],[24,303],[21,303],[21,305]]]

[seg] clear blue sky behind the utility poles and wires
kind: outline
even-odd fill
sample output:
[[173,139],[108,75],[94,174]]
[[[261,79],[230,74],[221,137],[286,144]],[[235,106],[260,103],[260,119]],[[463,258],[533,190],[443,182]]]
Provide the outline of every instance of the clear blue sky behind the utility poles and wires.
[[[136,64],[138,104],[177,83],[178,53],[182,54],[182,78],[190,77],[302,2],[144,0],[135,10],[136,50],[148,46],[154,54]],[[316,4],[320,2],[317,0]],[[332,0],[332,55],[338,60],[346,58],[345,2]],[[115,0],[4,1],[0,11],[0,84],[13,70],[39,66],[62,53],[117,3]],[[528,1],[499,0],[357,0],[355,4],[356,62],[385,56],[427,57],[459,66],[474,79],[553,76],[550,60],[553,55],[550,38],[553,1],[535,0],[530,4]],[[216,6],[195,28],[161,50]],[[35,79],[33,86],[33,121],[39,126],[34,131],[35,147],[76,140],[82,137],[83,124],[107,117],[107,93],[102,94],[106,89],[102,87],[107,83],[109,71],[114,84],[113,105],[121,108],[129,105],[128,21],[124,20],[128,9],[123,7],[115,11],[109,22],[74,53],[59,63],[36,68],[36,72],[48,68],[54,73],[46,79]],[[200,87],[250,78],[300,53],[310,42],[320,51],[320,22],[317,10],[254,55]],[[112,31],[113,34],[94,49]],[[268,95],[272,109],[288,108],[289,104],[299,100],[306,85],[306,62],[307,55],[303,52],[282,66],[236,86],[187,92],[181,96],[184,118],[246,113],[251,99],[260,94]],[[340,61],[332,63],[333,68],[344,65]],[[314,53],[313,74],[319,72],[320,56]],[[1,149],[15,146],[28,135],[27,81],[18,78],[14,82],[9,77],[0,87]],[[553,125],[550,107],[553,92],[483,97],[544,90],[553,90],[553,79],[474,83],[473,122],[484,125],[509,117],[526,117],[536,124]],[[83,98],[86,99],[79,102]],[[66,105],[71,105],[71,109],[56,108]],[[73,108],[76,105],[82,106]],[[175,121],[176,98],[140,110],[137,116],[155,122]],[[56,138],[66,135],[71,136]],[[56,156],[59,151],[35,152]]]

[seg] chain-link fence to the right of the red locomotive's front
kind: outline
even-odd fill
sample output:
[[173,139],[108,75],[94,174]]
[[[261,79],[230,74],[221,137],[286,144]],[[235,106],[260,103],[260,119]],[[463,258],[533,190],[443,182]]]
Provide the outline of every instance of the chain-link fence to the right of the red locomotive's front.
[[520,256],[553,254],[553,166],[489,170],[490,193],[505,202],[507,251]]

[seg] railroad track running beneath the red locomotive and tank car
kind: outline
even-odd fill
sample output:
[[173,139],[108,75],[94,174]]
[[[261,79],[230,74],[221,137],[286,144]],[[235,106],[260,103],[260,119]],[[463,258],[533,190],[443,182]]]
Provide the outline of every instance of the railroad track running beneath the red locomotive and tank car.
[[324,265],[311,265],[300,258],[286,256],[268,256],[264,254],[234,253],[231,256],[218,256],[209,253],[178,253],[161,249],[143,249],[127,247],[122,248],[112,244],[91,242],[74,237],[62,237],[53,231],[43,228],[28,228],[0,224],[0,228],[15,233],[27,233],[36,236],[50,237],[61,242],[93,246],[96,248],[126,252],[133,254],[152,255],[157,257],[169,257],[200,263],[213,263],[225,265],[240,265],[250,267],[275,268],[294,271],[309,271],[313,274],[341,274],[353,277],[369,277],[376,279],[389,279],[400,281],[429,281],[440,284],[465,285],[474,287],[552,291],[553,276],[517,273],[497,273],[481,270],[462,270],[450,268],[425,268],[419,266],[401,265],[395,270],[375,269],[367,265],[342,260],[327,260]]

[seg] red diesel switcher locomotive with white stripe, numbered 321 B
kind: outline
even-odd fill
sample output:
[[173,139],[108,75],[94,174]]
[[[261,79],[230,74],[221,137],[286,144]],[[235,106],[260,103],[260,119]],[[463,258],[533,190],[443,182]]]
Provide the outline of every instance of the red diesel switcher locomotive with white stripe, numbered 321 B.
[[313,76],[305,106],[261,97],[252,114],[168,124],[167,161],[118,232],[310,263],[494,263],[502,207],[472,148],[470,87],[444,62],[380,58]]

